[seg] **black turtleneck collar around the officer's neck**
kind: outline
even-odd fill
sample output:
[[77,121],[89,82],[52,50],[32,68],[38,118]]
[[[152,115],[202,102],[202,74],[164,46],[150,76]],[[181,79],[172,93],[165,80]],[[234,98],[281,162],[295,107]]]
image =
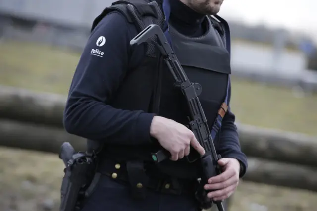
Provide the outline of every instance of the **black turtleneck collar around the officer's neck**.
[[170,21],[173,27],[180,33],[198,37],[204,34],[203,20],[205,15],[200,14],[180,0],[169,0],[171,6]]

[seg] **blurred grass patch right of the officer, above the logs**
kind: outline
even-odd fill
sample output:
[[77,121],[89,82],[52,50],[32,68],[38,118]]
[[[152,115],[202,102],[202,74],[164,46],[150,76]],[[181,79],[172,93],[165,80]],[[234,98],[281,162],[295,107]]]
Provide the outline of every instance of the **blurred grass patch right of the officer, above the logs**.
[[232,110],[244,124],[317,136],[317,94],[232,80]]

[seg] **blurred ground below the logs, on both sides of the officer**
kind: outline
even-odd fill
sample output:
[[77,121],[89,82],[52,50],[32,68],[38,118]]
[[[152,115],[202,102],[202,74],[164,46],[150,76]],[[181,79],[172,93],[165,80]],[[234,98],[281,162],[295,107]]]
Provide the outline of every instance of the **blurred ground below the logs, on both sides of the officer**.
[[[0,148],[0,210],[58,211],[62,161]],[[316,211],[317,193],[241,181],[230,211]]]

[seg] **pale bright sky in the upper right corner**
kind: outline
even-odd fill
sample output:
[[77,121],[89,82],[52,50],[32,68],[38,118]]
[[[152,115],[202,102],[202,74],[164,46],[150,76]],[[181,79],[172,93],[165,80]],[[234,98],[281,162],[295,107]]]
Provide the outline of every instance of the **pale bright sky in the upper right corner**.
[[304,30],[317,37],[317,0],[224,0],[219,15]]

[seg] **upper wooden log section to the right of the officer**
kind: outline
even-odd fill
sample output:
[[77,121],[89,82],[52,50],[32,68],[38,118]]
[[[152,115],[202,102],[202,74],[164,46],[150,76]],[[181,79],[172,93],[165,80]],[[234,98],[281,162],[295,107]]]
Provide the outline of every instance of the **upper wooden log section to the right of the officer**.
[[317,137],[238,125],[242,151],[251,157],[317,167]]

